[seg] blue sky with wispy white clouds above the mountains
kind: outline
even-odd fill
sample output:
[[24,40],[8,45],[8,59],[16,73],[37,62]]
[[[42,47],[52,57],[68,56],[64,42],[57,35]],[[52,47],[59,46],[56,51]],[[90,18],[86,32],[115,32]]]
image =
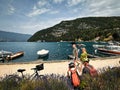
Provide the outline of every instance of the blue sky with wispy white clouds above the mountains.
[[120,16],[120,0],[0,0],[0,30],[33,35],[61,21]]

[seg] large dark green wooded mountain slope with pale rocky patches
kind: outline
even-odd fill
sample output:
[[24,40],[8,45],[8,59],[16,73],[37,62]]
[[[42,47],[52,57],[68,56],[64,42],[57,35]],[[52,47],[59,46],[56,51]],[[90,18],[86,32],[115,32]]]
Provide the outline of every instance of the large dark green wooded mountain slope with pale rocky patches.
[[120,40],[120,17],[86,17],[36,32],[28,41]]

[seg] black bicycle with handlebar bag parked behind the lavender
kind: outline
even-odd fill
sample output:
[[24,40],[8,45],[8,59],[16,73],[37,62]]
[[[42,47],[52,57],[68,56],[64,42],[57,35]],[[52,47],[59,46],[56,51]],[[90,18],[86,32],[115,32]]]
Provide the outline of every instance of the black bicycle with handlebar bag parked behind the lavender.
[[44,75],[39,75],[38,71],[41,71],[43,69],[44,69],[43,63],[36,65],[35,68],[31,68],[31,70],[34,70],[34,73],[29,77],[25,77],[25,75],[23,74],[23,72],[26,71],[26,69],[18,69],[17,72],[21,73],[22,75],[21,77],[18,76],[17,74],[12,74],[12,75],[6,76],[5,80],[7,80],[8,82],[13,81],[15,83],[19,83],[22,80],[40,80],[44,77]]

